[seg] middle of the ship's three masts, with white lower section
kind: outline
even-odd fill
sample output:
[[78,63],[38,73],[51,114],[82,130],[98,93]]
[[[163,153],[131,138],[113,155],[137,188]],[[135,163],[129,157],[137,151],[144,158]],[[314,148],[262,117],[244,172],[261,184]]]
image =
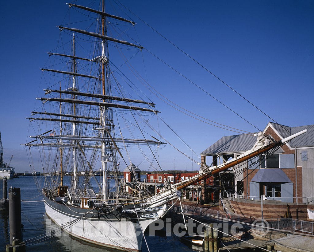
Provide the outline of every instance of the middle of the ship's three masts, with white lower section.
[[[73,56],[75,57],[75,36],[73,33]],[[75,66],[75,58],[73,58],[73,72],[76,72],[76,66]],[[76,90],[76,79],[75,75],[73,75],[73,91]],[[73,99],[75,99],[75,94],[73,95]],[[60,112],[61,114],[61,112]],[[76,107],[75,103],[73,103],[73,115],[76,115]],[[73,118],[75,120],[75,118]],[[73,122],[73,135],[76,135],[76,123]],[[75,190],[78,185],[78,174],[77,174],[77,163],[76,163],[76,147],[77,140],[73,140],[73,189]]]

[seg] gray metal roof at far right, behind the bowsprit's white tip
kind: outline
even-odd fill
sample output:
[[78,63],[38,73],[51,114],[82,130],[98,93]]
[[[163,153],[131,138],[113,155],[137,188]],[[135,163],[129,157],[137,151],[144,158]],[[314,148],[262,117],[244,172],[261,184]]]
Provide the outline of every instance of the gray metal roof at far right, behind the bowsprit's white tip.
[[[271,122],[271,125],[278,131],[282,137],[289,137],[292,134],[300,132],[307,129],[307,132],[301,136],[292,139],[290,145],[291,147],[308,147],[314,146],[314,125],[305,125],[298,127],[289,127],[281,124]],[[291,133],[290,133],[291,132]]]

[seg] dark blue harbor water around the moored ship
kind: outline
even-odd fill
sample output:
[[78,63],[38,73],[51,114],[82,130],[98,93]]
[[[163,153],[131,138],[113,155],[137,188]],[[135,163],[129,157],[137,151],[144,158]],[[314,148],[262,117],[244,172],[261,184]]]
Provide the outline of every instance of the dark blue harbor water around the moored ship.
[[[42,186],[44,176],[37,176],[37,178]],[[96,178],[100,179],[97,176]],[[64,177],[65,185],[68,184],[69,179],[70,176]],[[95,192],[98,192],[97,182],[92,179],[91,183]],[[110,186],[114,188],[113,180],[110,181]],[[44,203],[41,201],[33,176],[8,179],[8,188],[10,187],[21,188],[23,240],[26,242],[27,251],[115,251],[83,242],[60,231],[45,215]],[[2,186],[0,188],[0,195],[2,195]],[[9,244],[8,223],[8,213],[0,212],[0,251],[5,251],[6,244]],[[166,236],[165,232],[160,231],[155,236],[149,236],[147,232],[145,238],[150,251],[203,251],[202,247],[181,243],[181,238],[173,233],[171,236]],[[142,249],[148,251],[144,239]]]

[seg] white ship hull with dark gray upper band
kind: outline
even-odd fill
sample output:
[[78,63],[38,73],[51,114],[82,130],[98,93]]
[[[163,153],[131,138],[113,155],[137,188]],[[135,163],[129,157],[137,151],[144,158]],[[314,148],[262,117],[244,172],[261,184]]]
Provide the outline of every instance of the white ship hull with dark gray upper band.
[[[125,251],[141,251],[143,240],[141,227],[145,231],[149,224],[161,218],[166,212],[165,207],[157,210],[152,208],[153,211],[138,213],[140,220],[138,221],[132,217],[98,215],[97,210],[91,212],[90,209],[70,207],[47,198],[44,201],[47,216],[69,235],[89,243]],[[71,224],[68,224],[69,222]]]

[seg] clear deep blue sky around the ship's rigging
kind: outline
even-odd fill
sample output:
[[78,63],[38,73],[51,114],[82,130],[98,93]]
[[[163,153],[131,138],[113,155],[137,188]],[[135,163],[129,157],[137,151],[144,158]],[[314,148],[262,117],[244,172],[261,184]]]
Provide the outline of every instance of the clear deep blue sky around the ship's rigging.
[[[90,2],[94,1],[75,3],[89,5]],[[277,122],[287,126],[314,123],[313,1],[131,3],[121,0],[121,3]],[[69,23],[68,20],[74,20],[78,13],[68,10],[64,1],[15,1],[14,4],[2,1],[0,9],[0,131],[5,161],[13,154],[11,165],[17,171],[25,171],[29,170],[29,162],[19,144],[29,139],[29,121],[25,117],[30,116],[35,98],[42,94],[43,75],[39,69],[47,65],[46,52],[56,48],[60,35],[56,25]],[[114,1],[107,2],[107,11],[126,17]],[[145,78],[147,73],[149,83],[160,93],[210,120],[248,132],[257,131],[149,52],[158,55],[254,126],[264,129],[270,120],[268,117],[125,11],[137,23],[135,29],[139,40],[137,36],[134,40],[148,50],[144,49],[134,57],[134,66],[142,70]],[[77,24],[71,27],[74,26],[79,27]],[[143,64],[139,63],[143,59],[146,73]],[[192,120],[163,104],[160,98],[151,97],[156,108],[162,111],[161,118],[197,154],[219,138],[236,134]],[[165,130],[165,138],[192,156],[167,127],[161,126],[161,130]],[[191,161],[171,146],[160,151],[160,163],[165,170],[192,168]],[[194,169],[196,167],[194,165]]]

